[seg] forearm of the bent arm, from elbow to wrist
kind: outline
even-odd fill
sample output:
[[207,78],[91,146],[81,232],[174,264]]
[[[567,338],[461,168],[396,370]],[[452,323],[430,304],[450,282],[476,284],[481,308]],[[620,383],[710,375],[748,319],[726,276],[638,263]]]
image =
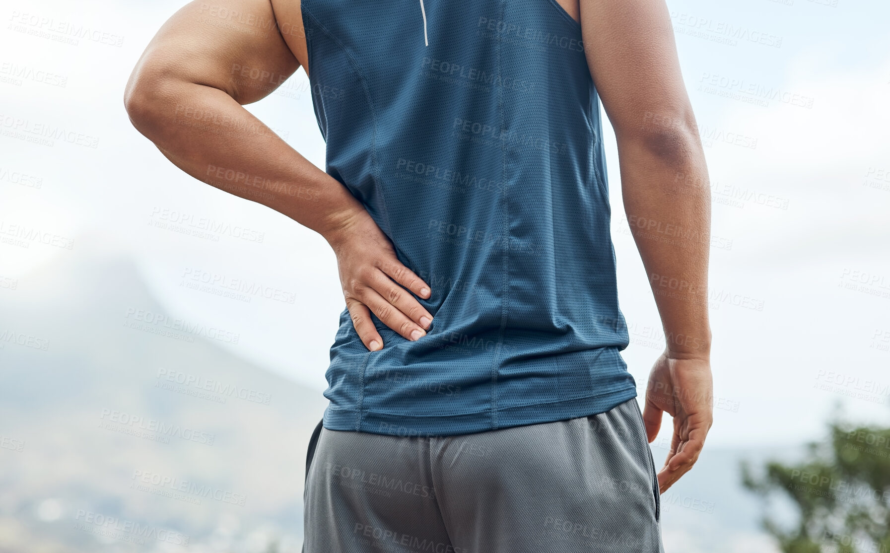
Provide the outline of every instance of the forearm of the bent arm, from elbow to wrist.
[[271,207],[328,241],[352,212],[364,209],[343,184],[223,90],[166,82],[134,90],[127,110],[134,126],[176,167]]

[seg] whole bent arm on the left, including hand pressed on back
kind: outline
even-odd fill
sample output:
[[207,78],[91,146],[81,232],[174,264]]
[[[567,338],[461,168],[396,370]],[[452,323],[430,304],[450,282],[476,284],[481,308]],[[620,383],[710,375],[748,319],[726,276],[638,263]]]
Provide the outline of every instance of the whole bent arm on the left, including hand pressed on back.
[[[277,23],[262,28],[237,21],[209,25],[206,3],[186,4],[142,53],[126,85],[126,111],[176,167],[271,207],[328,240],[353,325],[368,349],[383,347],[371,312],[402,337],[422,337],[433,316],[410,292],[428,298],[428,285],[401,264],[392,242],[342,183],[243,107],[270,94],[300,66],[294,55],[305,52],[300,4],[280,4],[214,2],[220,12],[242,14],[241,21]],[[287,29],[287,41],[281,29]],[[290,44],[300,41],[302,48]],[[251,74],[262,77],[244,77]]]

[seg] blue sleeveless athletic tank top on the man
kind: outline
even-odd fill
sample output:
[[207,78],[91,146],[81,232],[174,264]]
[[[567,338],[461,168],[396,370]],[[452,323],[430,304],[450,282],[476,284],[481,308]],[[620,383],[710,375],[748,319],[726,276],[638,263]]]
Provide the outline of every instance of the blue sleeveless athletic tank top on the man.
[[328,175],[432,289],[411,341],[349,312],[324,427],[457,435],[636,395],[619,311],[599,97],[555,0],[302,0]]

